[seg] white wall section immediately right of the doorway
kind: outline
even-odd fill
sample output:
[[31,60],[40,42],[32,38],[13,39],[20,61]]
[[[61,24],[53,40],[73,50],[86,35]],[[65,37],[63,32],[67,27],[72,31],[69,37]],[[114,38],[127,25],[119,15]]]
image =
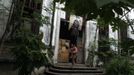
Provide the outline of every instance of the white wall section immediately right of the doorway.
[[[88,62],[88,61],[90,61],[90,60],[87,60],[88,53],[89,53],[88,50],[93,51],[93,49],[91,48],[92,46],[94,46],[95,51],[98,50],[98,29],[97,29],[97,22],[96,21],[87,21],[86,35],[87,36],[86,36],[86,42],[85,42],[85,48],[86,48],[85,61]],[[96,61],[97,61],[97,56],[95,56],[93,59],[93,66],[96,65]]]

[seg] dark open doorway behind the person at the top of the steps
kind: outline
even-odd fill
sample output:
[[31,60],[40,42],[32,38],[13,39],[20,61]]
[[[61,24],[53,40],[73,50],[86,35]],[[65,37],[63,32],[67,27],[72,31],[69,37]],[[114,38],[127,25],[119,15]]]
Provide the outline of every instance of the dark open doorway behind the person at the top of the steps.
[[[69,63],[70,31],[69,22],[65,19],[61,19],[59,36],[58,63]],[[82,64],[84,62],[82,31],[79,31],[79,36],[77,38],[77,63]]]

